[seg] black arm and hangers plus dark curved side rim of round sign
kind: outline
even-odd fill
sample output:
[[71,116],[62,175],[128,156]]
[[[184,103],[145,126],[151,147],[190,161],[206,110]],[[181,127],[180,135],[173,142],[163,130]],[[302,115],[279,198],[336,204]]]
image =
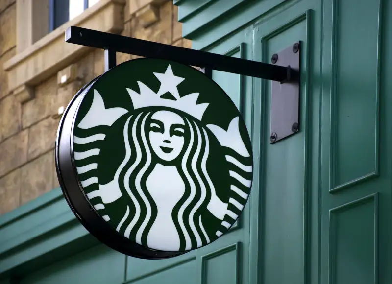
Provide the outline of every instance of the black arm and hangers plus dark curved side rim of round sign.
[[[299,86],[300,81],[300,68],[296,68],[297,66],[295,66],[293,69],[290,67],[290,65],[282,66],[279,64],[256,62],[185,47],[176,47],[140,40],[76,26],[71,26],[66,30],[65,38],[67,43],[104,49],[105,72],[117,65],[116,53],[122,52],[147,58],[150,57],[172,60],[189,66],[197,66],[200,67],[200,71],[210,78],[212,70],[218,70],[276,81],[281,84],[287,83],[288,85],[296,84]],[[274,63],[276,63],[276,61]],[[64,192],[63,190],[65,199],[83,226],[88,228],[92,235],[98,237],[99,241],[105,244],[110,244],[110,247],[114,250],[122,251],[129,256],[143,259],[167,259],[182,255],[186,252],[157,251],[138,245],[136,243],[134,245],[129,245],[129,239],[125,237],[123,237],[123,239],[120,239],[118,236],[115,237],[117,232],[111,228],[110,225],[102,223],[101,217],[92,209],[92,206],[89,204],[85,193],[80,190],[80,182],[74,176],[75,166],[72,163],[73,153],[72,151],[70,152],[68,147],[69,145],[61,145],[62,141],[68,141],[68,139],[60,138],[62,135],[69,135],[71,133],[70,130],[72,123],[68,123],[65,120],[67,117],[73,117],[73,112],[76,110],[73,109],[72,106],[77,105],[75,102],[80,100],[83,95],[88,92],[90,87],[98,78],[99,76],[90,83],[86,84],[73,97],[61,118],[58,128],[58,139],[56,139],[55,147],[55,164],[57,175],[61,188],[71,189],[67,190],[67,192]],[[294,107],[298,108],[298,105]],[[69,112],[71,112],[71,116],[67,116]],[[65,174],[67,172],[69,174]],[[67,176],[67,179],[63,178],[65,175]],[[71,202],[71,200],[73,200],[73,202]],[[75,200],[77,200],[77,202],[74,202]],[[84,217],[81,218],[81,216],[78,215],[78,212],[82,212]],[[111,239],[116,239],[117,241],[113,242]],[[129,246],[129,248],[124,251],[124,248],[127,246]]]

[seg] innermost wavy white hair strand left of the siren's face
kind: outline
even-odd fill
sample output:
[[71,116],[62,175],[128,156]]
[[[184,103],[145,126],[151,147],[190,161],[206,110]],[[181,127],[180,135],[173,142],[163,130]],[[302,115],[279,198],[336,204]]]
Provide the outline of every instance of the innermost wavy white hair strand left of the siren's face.
[[148,167],[151,164],[151,153],[150,153],[150,151],[148,149],[147,139],[146,139],[145,130],[144,130],[144,125],[146,123],[146,119],[147,119],[149,114],[150,113],[148,113],[143,118],[142,125],[141,125],[141,128],[142,128],[142,141],[143,141],[143,144],[144,144],[145,149],[146,149],[147,161],[146,161],[146,164],[142,167],[142,169],[136,175],[136,180],[135,180],[136,189],[138,190],[140,196],[142,197],[142,199],[143,199],[143,201],[144,201],[144,203],[146,205],[146,217],[143,220],[143,223],[140,226],[138,232],[136,233],[136,242],[138,242],[139,244],[142,244],[142,234],[143,234],[144,230],[146,229],[146,226],[147,226],[149,220],[151,219],[151,205],[150,205],[150,203],[149,203],[149,201],[148,201],[148,199],[146,197],[146,194],[144,194],[144,192],[142,190],[142,187],[141,187],[142,177],[146,173]]

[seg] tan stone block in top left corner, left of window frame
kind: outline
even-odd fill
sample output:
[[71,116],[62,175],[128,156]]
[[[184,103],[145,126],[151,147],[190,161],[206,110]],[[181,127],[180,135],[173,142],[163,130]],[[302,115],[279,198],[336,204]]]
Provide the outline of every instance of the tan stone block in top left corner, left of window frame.
[[0,55],[16,46],[16,4],[9,6],[0,17]]

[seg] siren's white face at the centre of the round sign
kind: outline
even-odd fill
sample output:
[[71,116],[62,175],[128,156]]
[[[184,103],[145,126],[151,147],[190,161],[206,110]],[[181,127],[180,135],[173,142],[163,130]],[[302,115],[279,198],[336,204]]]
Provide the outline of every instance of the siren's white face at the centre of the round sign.
[[151,116],[149,126],[149,140],[155,154],[164,161],[177,158],[184,146],[184,119],[173,112],[158,111]]

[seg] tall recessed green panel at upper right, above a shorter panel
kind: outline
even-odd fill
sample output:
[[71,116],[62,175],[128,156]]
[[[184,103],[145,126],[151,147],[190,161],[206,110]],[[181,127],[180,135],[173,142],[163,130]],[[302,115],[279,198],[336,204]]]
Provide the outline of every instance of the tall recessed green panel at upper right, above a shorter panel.
[[331,190],[378,175],[380,1],[333,2]]

